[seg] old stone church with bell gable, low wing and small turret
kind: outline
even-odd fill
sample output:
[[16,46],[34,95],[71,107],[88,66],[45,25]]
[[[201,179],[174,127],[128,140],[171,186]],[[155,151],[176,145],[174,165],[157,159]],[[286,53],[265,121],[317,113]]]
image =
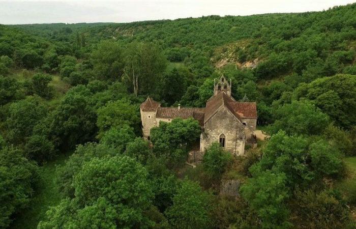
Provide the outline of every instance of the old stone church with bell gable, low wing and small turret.
[[214,95],[206,101],[205,108],[161,107],[152,98],[140,105],[143,137],[150,139],[150,130],[161,121],[170,122],[174,118],[194,118],[201,126],[200,152],[204,152],[212,142],[231,153],[242,155],[246,142],[254,141],[257,110],[255,102],[236,102],[231,96],[231,80],[225,77],[214,83]]

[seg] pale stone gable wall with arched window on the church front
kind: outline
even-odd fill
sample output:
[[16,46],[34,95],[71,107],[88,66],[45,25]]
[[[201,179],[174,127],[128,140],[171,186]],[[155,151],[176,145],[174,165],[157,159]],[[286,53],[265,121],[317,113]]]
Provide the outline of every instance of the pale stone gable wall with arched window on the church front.
[[243,124],[224,106],[205,123],[200,137],[200,151],[205,151],[213,142],[219,142],[221,134],[225,135],[225,149],[231,153],[243,155],[245,150],[245,133]]

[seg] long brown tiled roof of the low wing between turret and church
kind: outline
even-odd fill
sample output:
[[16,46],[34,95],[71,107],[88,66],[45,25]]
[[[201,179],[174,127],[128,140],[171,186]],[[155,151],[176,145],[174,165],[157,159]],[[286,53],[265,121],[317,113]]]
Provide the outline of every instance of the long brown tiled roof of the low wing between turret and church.
[[157,109],[156,118],[174,119],[174,118],[194,118],[201,126],[204,125],[205,108],[196,107],[159,107]]

